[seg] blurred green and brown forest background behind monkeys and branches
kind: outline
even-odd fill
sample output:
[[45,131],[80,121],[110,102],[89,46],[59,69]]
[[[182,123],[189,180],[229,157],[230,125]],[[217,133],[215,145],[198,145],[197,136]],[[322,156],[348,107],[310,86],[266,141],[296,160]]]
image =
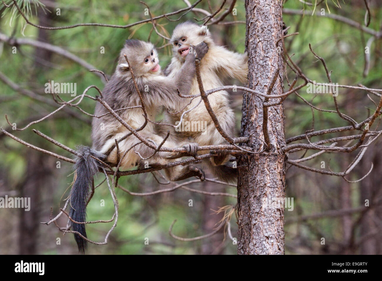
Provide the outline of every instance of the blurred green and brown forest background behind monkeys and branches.
[[[8,1],[9,2],[9,1]],[[7,3],[8,3],[7,2]],[[20,1],[19,1],[20,2]],[[147,19],[144,15],[146,6],[133,1],[90,1],[90,0],[41,0],[45,9],[30,4],[29,19],[43,26],[65,26],[76,23],[108,23],[124,25]],[[227,1],[228,8],[230,1]],[[288,53],[293,56],[303,72],[317,82],[326,82],[325,71],[320,62],[309,51],[309,43],[315,52],[325,58],[329,70],[333,70],[334,83],[357,85],[362,83],[369,88],[381,88],[382,78],[382,41],[374,40],[370,47],[370,65],[368,73],[364,73],[365,46],[371,37],[334,19],[311,16],[313,8],[309,3],[316,1],[286,0],[284,8],[304,10],[306,15],[283,15],[286,26],[290,26],[288,34],[299,32],[299,35],[285,39]],[[319,1],[317,1],[319,2]],[[325,13],[342,15],[364,25],[366,6],[363,0],[354,1],[321,1],[316,11],[321,8]],[[181,0],[147,0],[154,16],[186,7]],[[197,8],[209,11],[209,3],[215,11],[220,0],[203,0]],[[379,31],[382,28],[382,7],[379,0],[367,0],[370,8],[370,29]],[[57,14],[60,8],[60,15]],[[228,15],[225,21],[245,21],[244,0],[235,4],[236,15]],[[329,9],[329,10],[328,10]],[[44,12],[45,10],[45,12]],[[51,12],[49,12],[49,11]],[[37,15],[36,15],[37,11]],[[128,29],[98,26],[80,26],[63,30],[43,30],[26,26],[18,13],[0,4],[0,126],[8,132],[36,146],[70,157],[31,129],[40,130],[60,143],[75,148],[77,145],[91,145],[91,117],[81,114],[78,109],[69,108],[60,111],[51,118],[32,125],[24,131],[14,131],[5,120],[8,115],[11,123],[22,128],[33,120],[40,119],[52,112],[58,105],[52,96],[44,92],[45,83],[49,80],[64,83],[76,83],[77,94],[81,94],[89,85],[100,89],[104,84],[98,75],[88,71],[86,67],[63,57],[55,52],[36,48],[32,45],[16,45],[9,36],[19,39],[28,38],[62,47],[94,68],[112,75],[116,58],[125,39],[136,38],[150,41],[156,46],[167,43],[152,31],[152,24],[144,23]],[[170,17],[176,19],[180,16]],[[201,13],[189,12],[181,21],[201,19]],[[224,22],[224,21],[223,21]],[[157,20],[160,32],[171,37],[171,32],[178,22],[162,18]],[[215,42],[225,45],[231,50],[244,52],[246,24],[218,24],[209,26]],[[105,52],[101,49],[104,47]],[[162,69],[171,58],[170,46],[159,49]],[[290,80],[294,75],[290,74]],[[13,84],[14,83],[14,84]],[[238,81],[226,81],[225,84],[237,84]],[[288,86],[285,87],[288,89]],[[96,91],[88,94],[95,96]],[[236,112],[237,132],[240,132],[242,92],[232,92],[232,106]],[[299,91],[305,99],[312,101],[314,94],[307,94],[306,88]],[[63,99],[71,99],[70,94],[61,95]],[[44,102],[49,100],[50,104]],[[356,120],[363,120],[373,108],[372,101],[364,91],[356,89],[340,89],[338,95],[340,108]],[[285,102],[286,138],[305,133],[312,128],[312,111],[295,95],[289,96]],[[317,95],[313,104],[324,109],[334,109],[330,95]],[[84,99],[81,107],[93,112],[95,102]],[[78,118],[80,117],[80,118]],[[314,112],[314,128],[316,130],[347,125],[338,115],[327,112]],[[336,136],[340,136],[341,133]],[[333,135],[334,136],[334,135]],[[319,136],[315,138],[319,140]],[[51,224],[40,224],[49,220],[50,207],[53,216],[63,207],[73,180],[72,164],[57,160],[38,151],[0,135],[0,197],[30,197],[31,210],[0,209],[0,253],[1,254],[76,254],[78,253],[73,235],[62,235]],[[382,254],[382,213],[381,213],[381,180],[382,161],[381,140],[374,142],[366,152],[359,166],[353,170],[350,180],[363,177],[369,171],[371,162],[374,169],[364,180],[348,183],[340,177],[321,175],[288,167],[286,172],[286,197],[294,198],[293,211],[285,211],[286,254]],[[302,153],[300,153],[302,156]],[[309,161],[308,165],[320,169],[321,161],[325,161],[327,171],[343,171],[351,163],[357,152],[350,154],[325,153]],[[308,156],[308,155],[306,155]],[[296,156],[294,156],[296,157]],[[99,174],[95,184],[103,177]],[[118,184],[132,192],[151,192],[160,188],[168,188],[173,184],[161,186],[151,174],[130,175],[121,177]],[[235,186],[225,186],[212,182],[203,182],[189,187],[208,192],[226,192],[236,195]],[[174,234],[181,237],[195,237],[210,233],[222,218],[222,213],[212,210],[235,205],[236,198],[227,196],[210,196],[177,189],[174,192],[161,193],[148,197],[132,196],[119,188],[116,189],[120,213],[118,224],[109,237],[107,245],[89,244],[89,254],[236,254],[236,245],[223,231],[215,235],[191,242],[173,239],[168,228],[177,219],[173,228]],[[100,200],[105,206],[100,206]],[[189,200],[193,206],[189,206]],[[365,200],[373,202],[371,208],[364,211]],[[87,206],[87,219],[107,220],[114,212],[113,202],[107,185],[96,189],[94,197]],[[61,217],[58,223],[66,224]],[[216,225],[215,225],[216,224]],[[112,223],[88,224],[87,234],[90,239],[103,241]],[[230,222],[232,236],[236,235],[236,217]],[[61,243],[57,245],[57,238]],[[325,238],[322,245],[321,238]],[[146,245],[145,238],[149,238]]]

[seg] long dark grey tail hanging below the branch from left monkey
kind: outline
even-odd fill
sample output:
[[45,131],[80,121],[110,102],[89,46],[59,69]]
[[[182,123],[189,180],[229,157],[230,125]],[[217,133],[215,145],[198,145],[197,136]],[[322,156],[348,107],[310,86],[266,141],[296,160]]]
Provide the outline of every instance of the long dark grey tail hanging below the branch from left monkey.
[[[104,160],[105,155],[88,146],[79,146],[77,152],[80,153],[81,157],[77,157],[76,164],[74,164],[76,179],[70,193],[69,216],[73,221],[83,223],[86,221],[86,203],[89,190],[92,187],[93,177],[98,172],[98,167],[100,166],[100,163],[94,158],[91,158],[91,156]],[[87,237],[85,224],[72,222],[72,230]],[[78,251],[82,254],[85,253],[87,241],[78,234],[74,234],[74,239],[76,239]]]

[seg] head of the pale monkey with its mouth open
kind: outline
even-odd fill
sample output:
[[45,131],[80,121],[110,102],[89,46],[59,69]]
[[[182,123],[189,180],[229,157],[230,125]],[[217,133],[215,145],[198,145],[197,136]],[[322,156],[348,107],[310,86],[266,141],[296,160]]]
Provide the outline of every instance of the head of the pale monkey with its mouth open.
[[176,26],[171,37],[171,44],[174,56],[179,60],[184,60],[188,55],[190,46],[206,42],[211,42],[207,26],[199,26],[191,21],[180,23]]

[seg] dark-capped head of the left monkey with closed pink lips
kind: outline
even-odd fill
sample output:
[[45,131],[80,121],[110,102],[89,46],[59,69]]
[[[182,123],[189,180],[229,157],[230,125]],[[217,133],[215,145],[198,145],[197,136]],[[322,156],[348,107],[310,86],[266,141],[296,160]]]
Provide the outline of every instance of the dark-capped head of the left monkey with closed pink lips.
[[142,76],[148,73],[160,74],[158,52],[153,44],[134,39],[126,40],[125,47],[121,50],[117,70],[120,75],[129,76],[130,70],[124,56],[125,54],[135,76]]

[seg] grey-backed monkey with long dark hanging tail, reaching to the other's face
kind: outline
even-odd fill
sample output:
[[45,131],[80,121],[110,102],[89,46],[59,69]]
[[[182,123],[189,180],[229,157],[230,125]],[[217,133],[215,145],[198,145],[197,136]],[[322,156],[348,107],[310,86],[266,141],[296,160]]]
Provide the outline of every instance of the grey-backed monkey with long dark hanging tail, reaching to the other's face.
[[[134,72],[138,89],[142,94],[142,100],[146,108],[147,117],[154,120],[161,110],[162,106],[169,110],[179,107],[181,98],[178,96],[178,90],[182,94],[189,94],[192,80],[195,76],[195,56],[202,58],[208,51],[206,43],[194,46],[194,51],[185,57],[183,67],[180,68],[177,75],[166,77],[162,75],[159,65],[157,51],[151,43],[139,40],[126,40],[123,49],[120,52],[117,69],[102,91],[102,99],[105,101],[129,126],[134,130],[141,128],[145,123],[142,108],[129,108],[141,106],[141,101],[136,92],[133,78],[126,62],[125,54],[129,60],[130,66]],[[121,110],[123,109],[123,110]],[[74,168],[76,169],[76,180],[74,181],[70,197],[70,217],[76,222],[86,221],[86,203],[89,196],[89,190],[92,187],[92,180],[99,168],[102,166],[99,158],[104,162],[117,164],[117,159],[122,159],[125,152],[127,154],[121,161],[121,169],[129,169],[134,166],[144,166],[145,158],[149,161],[149,166],[161,166],[183,156],[179,153],[155,150],[144,143],[141,143],[134,135],[129,135],[123,140],[129,130],[123,126],[109,111],[100,103],[95,107],[92,121],[92,141],[93,147],[81,146]],[[157,125],[148,122],[146,126],[139,130],[142,138],[150,141],[154,145],[160,145],[164,139]],[[120,155],[117,156],[117,147],[115,140],[121,140],[118,143]],[[174,138],[168,138],[164,147],[184,146],[190,155],[193,154],[192,145],[177,143]],[[110,153],[108,153],[110,151]],[[108,155],[106,155],[108,154]],[[153,155],[154,154],[154,155]],[[92,157],[93,156],[93,157]],[[150,157],[152,156],[152,157]],[[204,172],[197,166],[185,165],[175,166],[165,169],[168,180],[177,181],[188,177],[199,177],[204,180]],[[79,232],[83,237],[86,236],[85,224],[72,223],[72,229]],[[74,234],[78,244],[79,252],[84,253],[87,243],[78,234]]]

